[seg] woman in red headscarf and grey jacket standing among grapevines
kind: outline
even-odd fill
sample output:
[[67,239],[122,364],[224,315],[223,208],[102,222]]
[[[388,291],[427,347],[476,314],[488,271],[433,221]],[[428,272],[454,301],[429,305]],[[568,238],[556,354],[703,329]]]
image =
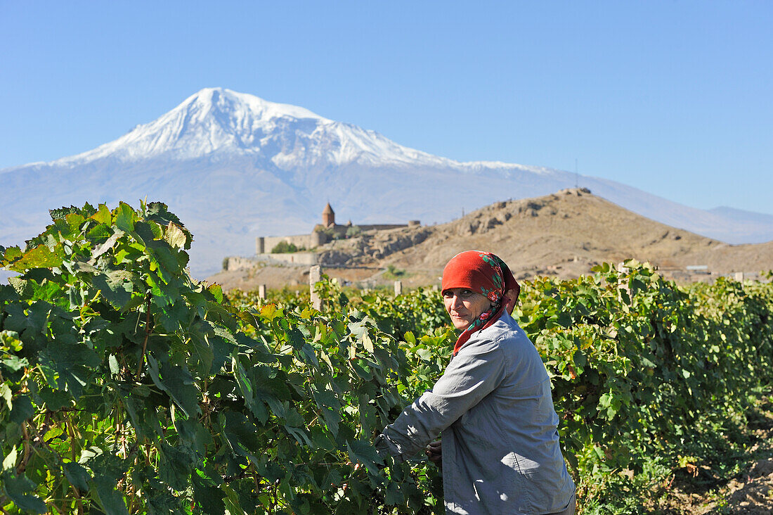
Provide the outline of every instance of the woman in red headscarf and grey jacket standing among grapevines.
[[[376,438],[397,461],[427,446],[443,466],[446,513],[574,513],[572,482],[542,359],[510,317],[520,287],[502,259],[468,251],[443,270],[461,335],[432,390]],[[442,433],[439,442],[430,444]]]

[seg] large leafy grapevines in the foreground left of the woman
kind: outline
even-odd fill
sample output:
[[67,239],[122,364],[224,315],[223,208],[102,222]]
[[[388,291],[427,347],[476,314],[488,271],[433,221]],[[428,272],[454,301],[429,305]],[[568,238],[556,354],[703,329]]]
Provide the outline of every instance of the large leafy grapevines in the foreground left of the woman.
[[[361,312],[242,310],[186,272],[164,204],[63,208],[0,264],[7,513],[416,513],[426,462],[371,445],[414,390]],[[437,482],[435,487],[437,488]],[[374,508],[374,506],[376,508]],[[380,508],[378,508],[380,506]]]

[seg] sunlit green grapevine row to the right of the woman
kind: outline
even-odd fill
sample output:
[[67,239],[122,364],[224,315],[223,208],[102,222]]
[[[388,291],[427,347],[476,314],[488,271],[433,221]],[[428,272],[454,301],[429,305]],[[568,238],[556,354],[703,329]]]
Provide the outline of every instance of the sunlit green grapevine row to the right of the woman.
[[519,324],[543,355],[579,475],[674,469],[773,381],[773,285],[680,287],[647,264],[526,283]]

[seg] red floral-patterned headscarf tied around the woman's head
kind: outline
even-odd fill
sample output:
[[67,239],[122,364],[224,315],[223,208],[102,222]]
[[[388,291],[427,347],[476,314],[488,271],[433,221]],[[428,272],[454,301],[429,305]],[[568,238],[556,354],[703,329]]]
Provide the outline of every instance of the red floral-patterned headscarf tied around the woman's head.
[[[491,300],[491,307],[461,332],[454,345],[454,355],[470,339],[472,333],[485,329],[499,320],[505,311],[503,299],[506,291],[514,290],[516,299],[521,291],[518,281],[512,276],[512,272],[502,259],[491,252],[478,250],[461,252],[451,258],[445,266],[442,291],[451,288],[468,288]],[[509,313],[512,313],[514,306],[515,302],[508,306]]]

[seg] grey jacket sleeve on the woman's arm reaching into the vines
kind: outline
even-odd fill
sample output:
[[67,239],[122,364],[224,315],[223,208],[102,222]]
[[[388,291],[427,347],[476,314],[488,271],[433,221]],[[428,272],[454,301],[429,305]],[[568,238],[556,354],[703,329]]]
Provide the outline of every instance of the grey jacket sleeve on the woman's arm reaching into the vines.
[[489,395],[505,374],[505,356],[495,342],[472,342],[451,359],[443,376],[375,441],[376,451],[398,462],[420,451],[446,427]]

